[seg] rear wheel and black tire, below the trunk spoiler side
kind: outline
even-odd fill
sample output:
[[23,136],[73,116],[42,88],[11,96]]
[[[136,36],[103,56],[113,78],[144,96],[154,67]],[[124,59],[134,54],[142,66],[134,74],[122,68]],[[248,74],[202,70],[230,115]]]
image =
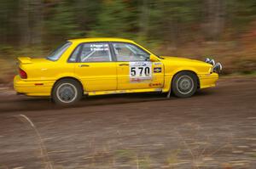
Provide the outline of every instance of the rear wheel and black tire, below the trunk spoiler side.
[[55,83],[51,97],[55,104],[75,104],[83,96],[83,89],[79,82],[73,79],[63,79]]

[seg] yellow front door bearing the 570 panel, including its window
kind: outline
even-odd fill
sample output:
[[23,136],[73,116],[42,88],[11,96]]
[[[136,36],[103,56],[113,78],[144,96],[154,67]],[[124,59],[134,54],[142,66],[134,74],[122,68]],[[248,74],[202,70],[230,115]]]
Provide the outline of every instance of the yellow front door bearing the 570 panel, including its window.
[[160,61],[150,61],[150,54],[135,44],[112,42],[112,47],[119,90],[163,87],[164,69]]

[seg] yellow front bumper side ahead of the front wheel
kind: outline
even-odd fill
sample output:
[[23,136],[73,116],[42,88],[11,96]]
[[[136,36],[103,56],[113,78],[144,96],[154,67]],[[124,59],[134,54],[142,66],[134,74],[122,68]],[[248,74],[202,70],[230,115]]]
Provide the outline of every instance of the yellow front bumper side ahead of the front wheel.
[[215,87],[218,80],[218,74],[212,73],[207,75],[199,75],[200,88]]

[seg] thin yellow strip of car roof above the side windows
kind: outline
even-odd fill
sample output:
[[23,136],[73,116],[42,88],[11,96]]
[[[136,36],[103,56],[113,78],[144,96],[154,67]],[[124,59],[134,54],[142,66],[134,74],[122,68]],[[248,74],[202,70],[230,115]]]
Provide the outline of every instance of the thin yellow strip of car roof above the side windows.
[[70,39],[69,42],[133,42],[129,39],[116,37],[96,37],[96,38],[78,38]]

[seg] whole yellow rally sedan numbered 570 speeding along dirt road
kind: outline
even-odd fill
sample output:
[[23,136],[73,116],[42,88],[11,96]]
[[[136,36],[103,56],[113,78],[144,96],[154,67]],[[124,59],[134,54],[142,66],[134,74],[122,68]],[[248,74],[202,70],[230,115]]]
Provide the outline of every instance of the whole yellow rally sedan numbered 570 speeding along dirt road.
[[19,57],[17,93],[50,96],[57,104],[73,104],[86,94],[174,93],[192,96],[214,87],[221,65],[157,56],[137,43],[119,38],[68,40],[47,58]]

